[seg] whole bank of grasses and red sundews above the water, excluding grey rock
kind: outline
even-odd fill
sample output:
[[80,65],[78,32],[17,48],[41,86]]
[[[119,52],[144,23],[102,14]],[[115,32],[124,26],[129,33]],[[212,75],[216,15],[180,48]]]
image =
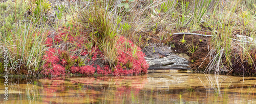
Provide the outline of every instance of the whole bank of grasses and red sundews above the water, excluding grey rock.
[[[0,46],[8,48],[9,73],[144,74],[148,64],[141,49],[152,43],[187,54],[196,72],[256,73],[254,1],[63,3],[35,0],[0,4]],[[1,73],[5,72],[3,60],[0,56]]]

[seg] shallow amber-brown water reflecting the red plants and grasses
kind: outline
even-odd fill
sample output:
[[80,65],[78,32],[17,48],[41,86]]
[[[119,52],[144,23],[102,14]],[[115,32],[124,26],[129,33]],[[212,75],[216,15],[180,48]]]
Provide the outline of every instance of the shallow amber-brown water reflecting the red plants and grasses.
[[1,103],[256,103],[256,78],[191,73],[143,76],[9,78]]

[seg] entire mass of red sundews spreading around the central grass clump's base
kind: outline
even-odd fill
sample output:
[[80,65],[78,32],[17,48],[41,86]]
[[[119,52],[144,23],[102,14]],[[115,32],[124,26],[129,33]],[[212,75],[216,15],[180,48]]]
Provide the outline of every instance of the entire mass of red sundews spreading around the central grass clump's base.
[[[70,30],[65,27],[63,29]],[[59,33],[55,34],[54,39],[48,37],[45,42],[49,49],[42,57],[46,61],[42,65],[41,74],[59,76],[72,73],[87,76],[94,74],[122,76],[147,73],[148,64],[144,59],[144,53],[126,38],[121,36],[117,40],[115,47],[119,50],[115,65],[110,67],[108,63],[105,63],[103,67],[100,67],[94,62],[104,61],[103,52],[96,44],[89,43],[88,39],[90,38],[87,34],[79,31],[80,35],[75,35],[77,33],[72,35],[72,32],[62,31],[63,29],[58,29]],[[48,33],[48,35],[50,34]],[[72,43],[72,48],[60,49],[59,46],[67,45],[67,43]],[[92,46],[88,46],[88,44]]]

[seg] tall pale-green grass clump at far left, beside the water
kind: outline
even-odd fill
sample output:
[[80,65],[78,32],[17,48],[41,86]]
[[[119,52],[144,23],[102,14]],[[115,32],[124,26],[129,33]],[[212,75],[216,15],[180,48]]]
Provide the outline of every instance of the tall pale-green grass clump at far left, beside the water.
[[[10,64],[15,65],[16,60],[20,60],[19,65],[24,64],[23,70],[28,72],[37,71],[40,67],[41,57],[45,47],[46,29],[37,29],[31,22],[22,23],[15,28],[13,33],[7,37],[1,37],[1,44],[8,48],[10,54]],[[26,25],[29,24],[29,25]]]

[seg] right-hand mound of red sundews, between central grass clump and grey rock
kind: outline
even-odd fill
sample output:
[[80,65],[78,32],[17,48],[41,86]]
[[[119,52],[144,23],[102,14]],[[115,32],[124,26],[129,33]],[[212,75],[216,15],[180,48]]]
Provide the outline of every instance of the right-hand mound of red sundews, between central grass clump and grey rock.
[[126,40],[124,37],[120,37],[117,41],[118,62],[115,66],[114,75],[129,75],[147,73],[148,64],[144,59],[145,54],[141,51],[141,48],[135,46],[131,41]]

